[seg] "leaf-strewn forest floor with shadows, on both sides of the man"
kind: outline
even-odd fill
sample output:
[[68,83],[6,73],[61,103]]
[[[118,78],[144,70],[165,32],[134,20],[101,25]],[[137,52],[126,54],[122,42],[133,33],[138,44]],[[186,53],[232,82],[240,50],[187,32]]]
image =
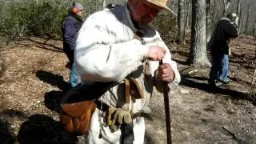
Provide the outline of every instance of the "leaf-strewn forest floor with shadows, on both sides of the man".
[[[33,37],[0,43],[0,142],[82,143],[58,118],[69,75],[62,42]],[[214,90],[207,84],[209,68],[187,74],[188,46],[169,46],[182,74],[170,92],[173,143],[256,143],[255,85],[250,84],[256,38],[231,42],[231,82]],[[154,93],[150,107],[154,121],[146,120],[146,143],[166,143],[162,94]]]

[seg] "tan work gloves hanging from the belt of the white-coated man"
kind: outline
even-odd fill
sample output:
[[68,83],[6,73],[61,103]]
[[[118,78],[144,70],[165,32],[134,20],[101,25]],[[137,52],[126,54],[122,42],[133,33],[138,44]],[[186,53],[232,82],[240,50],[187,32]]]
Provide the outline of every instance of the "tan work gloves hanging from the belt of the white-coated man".
[[132,122],[132,118],[130,112],[126,110],[122,110],[120,108],[110,107],[108,110],[107,118],[106,118],[107,125],[110,127],[112,132],[117,131],[120,129],[122,123],[130,123]]

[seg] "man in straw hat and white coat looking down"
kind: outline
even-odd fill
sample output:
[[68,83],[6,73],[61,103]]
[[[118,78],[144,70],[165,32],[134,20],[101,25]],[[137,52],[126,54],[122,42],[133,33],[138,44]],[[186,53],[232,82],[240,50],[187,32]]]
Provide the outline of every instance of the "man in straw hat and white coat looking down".
[[86,85],[117,83],[98,98],[87,143],[143,144],[153,87],[161,91],[163,82],[170,88],[180,82],[170,50],[149,25],[161,10],[173,13],[166,2],[128,0],[83,23],[75,47],[78,74]]

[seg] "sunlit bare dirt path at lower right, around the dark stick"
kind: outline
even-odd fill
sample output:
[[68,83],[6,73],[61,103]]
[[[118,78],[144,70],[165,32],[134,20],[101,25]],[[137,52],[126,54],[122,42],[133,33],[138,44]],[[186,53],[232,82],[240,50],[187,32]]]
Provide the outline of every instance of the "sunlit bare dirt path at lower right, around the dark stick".
[[[174,143],[256,142],[256,109],[250,102],[188,86],[179,86],[170,96]],[[162,94],[156,93],[151,108],[154,122],[146,122],[149,143],[166,143]]]

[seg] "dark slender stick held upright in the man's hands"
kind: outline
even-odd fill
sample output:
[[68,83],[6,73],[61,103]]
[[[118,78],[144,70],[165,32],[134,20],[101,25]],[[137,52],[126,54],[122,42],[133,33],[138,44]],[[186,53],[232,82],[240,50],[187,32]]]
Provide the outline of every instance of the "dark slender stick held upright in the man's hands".
[[[162,65],[162,60],[159,62],[159,66]],[[165,102],[165,111],[166,111],[166,136],[167,136],[167,144],[171,144],[171,131],[170,131],[170,105],[169,105],[169,91],[170,88],[167,82],[164,82],[163,85],[163,98]]]

